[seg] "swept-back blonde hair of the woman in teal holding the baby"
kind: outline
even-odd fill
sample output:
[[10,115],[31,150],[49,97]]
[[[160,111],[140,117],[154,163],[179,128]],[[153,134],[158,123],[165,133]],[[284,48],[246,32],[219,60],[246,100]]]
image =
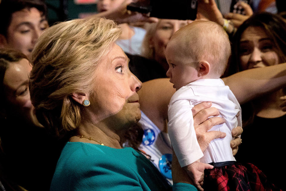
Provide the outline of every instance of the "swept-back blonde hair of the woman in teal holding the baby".
[[46,29],[32,51],[30,94],[41,124],[61,137],[78,127],[83,106],[72,93],[92,93],[94,71],[121,30],[111,20],[74,19]]

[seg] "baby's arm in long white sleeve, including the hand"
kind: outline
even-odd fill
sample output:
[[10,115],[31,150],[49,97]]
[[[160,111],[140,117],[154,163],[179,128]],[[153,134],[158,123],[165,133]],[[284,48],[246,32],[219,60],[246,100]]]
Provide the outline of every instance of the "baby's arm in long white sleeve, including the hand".
[[203,153],[195,133],[192,107],[188,100],[178,100],[169,105],[168,133],[180,166],[184,167],[194,185],[203,190],[203,171],[213,166],[199,162]]

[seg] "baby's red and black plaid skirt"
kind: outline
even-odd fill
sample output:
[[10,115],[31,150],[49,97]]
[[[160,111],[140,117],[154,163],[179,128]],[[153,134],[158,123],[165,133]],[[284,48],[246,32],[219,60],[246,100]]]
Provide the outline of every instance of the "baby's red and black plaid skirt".
[[204,171],[203,189],[205,191],[264,191],[281,190],[270,183],[266,176],[253,164],[227,165]]

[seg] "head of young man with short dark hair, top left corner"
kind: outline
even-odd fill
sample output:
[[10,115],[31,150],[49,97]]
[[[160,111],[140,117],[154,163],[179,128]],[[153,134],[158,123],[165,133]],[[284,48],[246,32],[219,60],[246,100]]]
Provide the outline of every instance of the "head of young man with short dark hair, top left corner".
[[42,31],[49,25],[47,7],[41,0],[2,0],[0,48],[11,48],[28,58]]

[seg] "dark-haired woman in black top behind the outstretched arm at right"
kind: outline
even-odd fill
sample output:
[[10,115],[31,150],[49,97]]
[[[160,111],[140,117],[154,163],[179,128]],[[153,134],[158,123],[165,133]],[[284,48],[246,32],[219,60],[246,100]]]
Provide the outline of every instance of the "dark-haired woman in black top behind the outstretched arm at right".
[[[279,15],[259,13],[251,16],[237,30],[233,39],[229,73],[284,63],[286,61],[286,22]],[[286,189],[284,165],[279,162],[284,144],[285,89],[276,89],[242,106],[245,122],[243,144],[236,156],[260,168],[282,190]],[[265,141],[259,141],[265,137]],[[257,145],[259,143],[259,146]]]

